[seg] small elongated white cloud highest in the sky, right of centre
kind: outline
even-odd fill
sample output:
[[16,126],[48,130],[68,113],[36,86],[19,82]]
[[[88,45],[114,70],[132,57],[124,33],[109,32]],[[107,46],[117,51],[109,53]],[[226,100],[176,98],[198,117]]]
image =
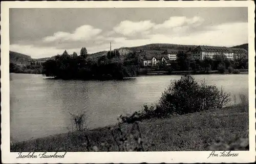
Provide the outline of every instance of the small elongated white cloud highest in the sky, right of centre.
[[172,16],[168,20],[164,21],[162,24],[156,25],[155,29],[160,28],[175,28],[181,27],[183,25],[200,25],[203,22],[203,18],[194,16],[192,18],[187,18],[185,16]]

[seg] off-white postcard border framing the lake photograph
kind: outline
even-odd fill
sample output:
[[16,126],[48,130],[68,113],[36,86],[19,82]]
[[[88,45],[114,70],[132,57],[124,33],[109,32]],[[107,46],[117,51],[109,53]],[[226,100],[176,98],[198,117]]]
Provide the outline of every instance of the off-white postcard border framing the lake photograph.
[[[67,152],[65,158],[16,158],[10,152],[9,8],[130,8],[130,7],[248,7],[249,42],[249,145],[250,151],[236,151],[238,157],[210,157],[211,151],[182,152]],[[253,1],[194,2],[1,2],[1,128],[3,163],[159,163],[159,162],[253,162],[255,161],[255,67]],[[37,153],[39,154],[39,153]],[[53,153],[54,154],[54,153]]]

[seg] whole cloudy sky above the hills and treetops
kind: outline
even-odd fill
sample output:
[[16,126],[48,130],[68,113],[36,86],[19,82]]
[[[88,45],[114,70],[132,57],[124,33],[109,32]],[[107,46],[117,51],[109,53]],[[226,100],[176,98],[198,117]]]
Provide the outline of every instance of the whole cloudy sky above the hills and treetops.
[[150,43],[233,46],[248,43],[246,7],[12,8],[10,51],[32,58]]

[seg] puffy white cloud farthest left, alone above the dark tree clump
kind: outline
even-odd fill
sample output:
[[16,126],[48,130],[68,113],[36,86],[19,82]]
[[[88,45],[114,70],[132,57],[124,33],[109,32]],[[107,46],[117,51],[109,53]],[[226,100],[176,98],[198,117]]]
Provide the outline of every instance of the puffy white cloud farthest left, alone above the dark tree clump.
[[53,41],[78,41],[78,40],[90,40],[94,36],[97,36],[101,33],[101,29],[95,29],[90,25],[83,25],[78,27],[73,33],[68,32],[56,32],[53,36],[47,36],[43,38],[44,42],[53,42]]

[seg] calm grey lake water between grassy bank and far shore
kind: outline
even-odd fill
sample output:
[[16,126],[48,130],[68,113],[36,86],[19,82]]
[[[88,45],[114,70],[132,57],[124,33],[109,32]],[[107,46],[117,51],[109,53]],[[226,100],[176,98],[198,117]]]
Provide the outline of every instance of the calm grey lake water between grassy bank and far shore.
[[[34,74],[10,74],[12,142],[72,131],[71,113],[86,110],[88,128],[117,122],[119,114],[155,103],[179,75],[140,76],[122,81],[56,80]],[[231,95],[248,95],[248,74],[195,75]],[[238,101],[237,101],[238,102]]]

